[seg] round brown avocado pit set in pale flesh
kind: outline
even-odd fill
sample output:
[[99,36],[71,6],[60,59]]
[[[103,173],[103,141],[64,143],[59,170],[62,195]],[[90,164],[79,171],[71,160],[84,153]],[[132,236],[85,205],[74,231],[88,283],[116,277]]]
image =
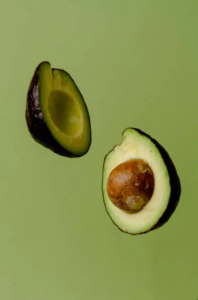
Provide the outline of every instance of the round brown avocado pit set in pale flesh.
[[129,159],[117,165],[107,180],[111,202],[127,212],[140,211],[151,199],[154,174],[143,159]]

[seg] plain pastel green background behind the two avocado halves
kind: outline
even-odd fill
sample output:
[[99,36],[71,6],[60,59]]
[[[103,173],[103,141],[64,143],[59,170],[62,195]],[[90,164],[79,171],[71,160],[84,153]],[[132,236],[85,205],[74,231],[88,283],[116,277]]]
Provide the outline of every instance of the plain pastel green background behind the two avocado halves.
[[[0,299],[197,300],[198,1],[0,3]],[[64,158],[30,137],[42,60],[67,70],[92,145]],[[164,227],[121,232],[101,191],[105,154],[138,127],[170,153],[180,204]]]

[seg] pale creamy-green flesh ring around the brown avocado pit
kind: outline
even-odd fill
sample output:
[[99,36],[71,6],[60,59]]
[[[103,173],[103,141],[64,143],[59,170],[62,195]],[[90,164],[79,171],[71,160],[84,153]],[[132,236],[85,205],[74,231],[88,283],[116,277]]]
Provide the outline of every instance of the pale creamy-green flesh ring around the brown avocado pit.
[[[141,158],[148,162],[154,173],[155,187],[152,198],[139,212],[127,213],[109,199],[106,184],[110,172],[121,162]],[[110,151],[104,161],[102,190],[104,203],[113,222],[123,231],[137,234],[148,231],[167,208],[171,193],[170,178],[164,160],[155,144],[133,128],[123,132],[123,142]]]

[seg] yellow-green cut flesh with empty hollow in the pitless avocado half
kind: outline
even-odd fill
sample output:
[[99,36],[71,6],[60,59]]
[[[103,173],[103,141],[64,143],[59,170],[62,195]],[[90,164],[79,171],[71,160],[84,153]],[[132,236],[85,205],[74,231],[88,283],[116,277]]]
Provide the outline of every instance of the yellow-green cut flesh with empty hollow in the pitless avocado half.
[[43,118],[57,142],[80,155],[90,142],[89,115],[82,95],[68,73],[51,69],[45,62],[39,69],[39,102]]

